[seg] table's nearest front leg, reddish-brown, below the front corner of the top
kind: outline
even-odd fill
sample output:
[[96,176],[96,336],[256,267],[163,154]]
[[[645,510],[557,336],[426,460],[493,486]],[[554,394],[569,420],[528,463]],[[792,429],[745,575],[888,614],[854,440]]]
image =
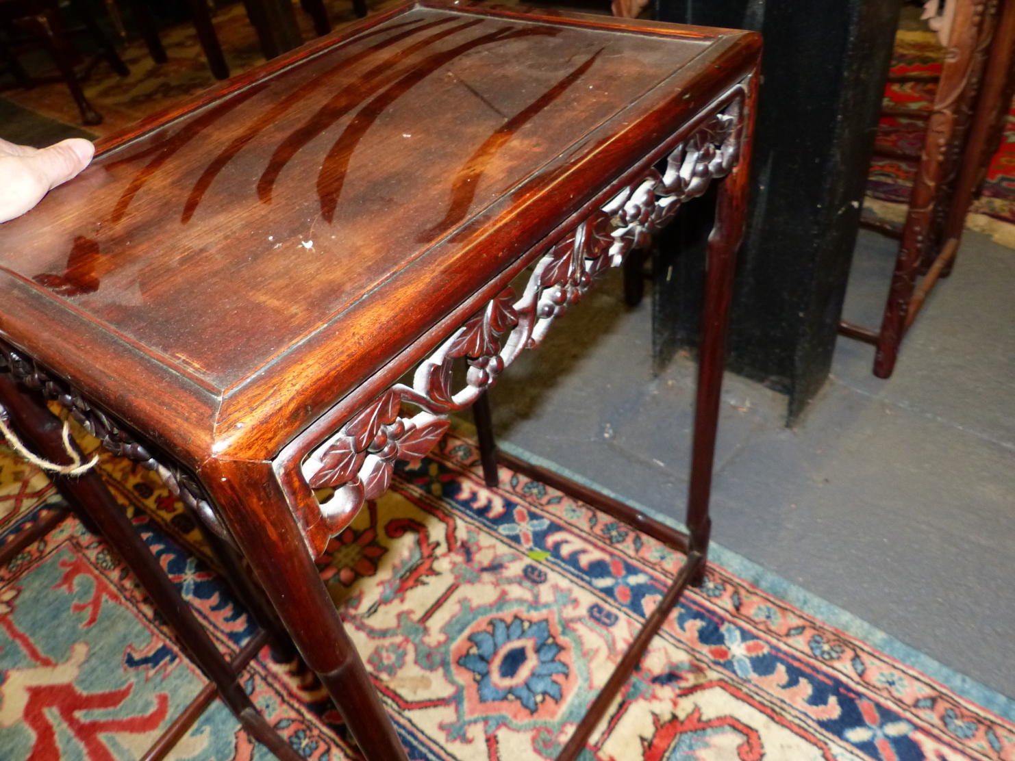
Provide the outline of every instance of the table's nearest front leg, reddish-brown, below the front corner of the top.
[[271,463],[211,460],[202,481],[240,550],[320,677],[367,761],[408,761],[381,696],[346,633]]

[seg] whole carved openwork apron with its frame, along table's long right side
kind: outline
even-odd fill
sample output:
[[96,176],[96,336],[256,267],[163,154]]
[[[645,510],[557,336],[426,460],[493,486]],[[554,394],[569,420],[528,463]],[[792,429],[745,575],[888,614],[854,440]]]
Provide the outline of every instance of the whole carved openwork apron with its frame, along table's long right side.
[[[330,421],[331,432],[323,440],[322,426],[313,425],[283,449],[273,470],[312,556],[321,554],[367,499],[387,491],[396,461],[427,455],[448,429],[450,413],[469,407],[523,349],[538,346],[552,321],[581,298],[597,275],[619,266],[684,201],[732,171],[744,139],[749,78],[625,172],[621,188],[611,186],[605,203],[600,194],[548,235],[548,245],[521,257],[519,271],[536,262],[522,296],[503,287],[457,328],[446,329],[436,350],[417,366],[411,386],[395,384],[344,421]],[[662,158],[661,172],[655,164]],[[418,361],[419,352],[413,354]],[[465,387],[455,392],[457,359],[469,369]],[[418,412],[403,416],[403,404]],[[323,503],[315,494],[322,489],[333,490]]]

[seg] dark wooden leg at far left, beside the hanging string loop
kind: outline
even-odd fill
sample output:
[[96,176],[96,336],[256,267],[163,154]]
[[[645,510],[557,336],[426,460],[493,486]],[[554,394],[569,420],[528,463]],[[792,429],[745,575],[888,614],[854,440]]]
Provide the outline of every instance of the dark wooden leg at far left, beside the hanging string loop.
[[[7,410],[12,427],[16,427],[28,446],[51,462],[67,461],[61,434],[63,423],[47,409],[41,397],[19,389],[14,379],[4,373],[0,374],[0,403]],[[300,761],[299,754],[257,710],[229,664],[106,488],[101,476],[90,470],[76,478],[57,476],[53,482],[63,497],[87,514],[120,552],[201,671],[215,683],[222,701],[243,728],[282,761]]]

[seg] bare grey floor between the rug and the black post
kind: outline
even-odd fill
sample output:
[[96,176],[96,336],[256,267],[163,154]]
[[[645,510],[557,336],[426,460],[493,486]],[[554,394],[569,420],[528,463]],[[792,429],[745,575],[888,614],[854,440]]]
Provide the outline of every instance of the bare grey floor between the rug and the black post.
[[[861,232],[845,317],[877,326],[896,245]],[[650,304],[613,272],[491,398],[501,439],[682,517],[694,364],[650,365]],[[1015,696],[1015,251],[967,231],[894,375],[839,339],[795,428],[728,374],[714,539]]]

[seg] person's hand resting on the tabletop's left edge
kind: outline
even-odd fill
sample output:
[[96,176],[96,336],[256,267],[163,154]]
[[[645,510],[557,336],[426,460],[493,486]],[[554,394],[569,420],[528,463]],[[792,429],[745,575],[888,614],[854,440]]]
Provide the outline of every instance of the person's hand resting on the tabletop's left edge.
[[94,153],[95,147],[79,137],[42,149],[0,140],[0,222],[32,208],[87,166]]

